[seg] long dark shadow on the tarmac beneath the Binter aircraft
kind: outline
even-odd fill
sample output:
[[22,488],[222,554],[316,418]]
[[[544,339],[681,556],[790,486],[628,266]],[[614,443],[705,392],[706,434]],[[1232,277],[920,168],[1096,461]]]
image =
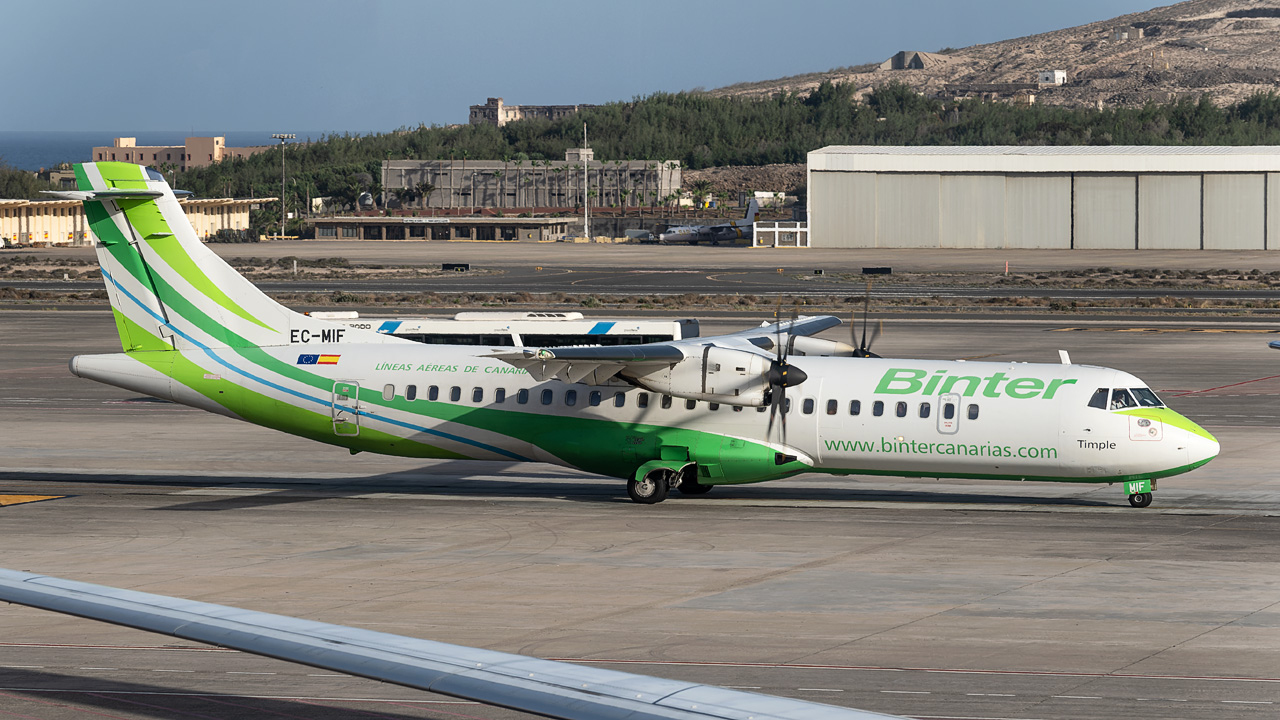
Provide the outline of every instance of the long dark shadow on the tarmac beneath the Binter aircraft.
[[[109,475],[72,473],[0,473],[0,483],[29,486],[40,482],[58,483],[110,483],[138,486],[178,486],[188,488],[223,488],[227,497],[206,497],[191,502],[180,502],[159,511],[218,512],[228,510],[252,510],[301,502],[342,500],[371,493],[396,493],[402,496],[449,497],[456,500],[485,498],[554,498],[584,503],[630,503],[626,486],[613,478],[596,478],[579,474],[566,475],[572,470],[561,470],[517,462],[475,462],[445,461],[430,468],[383,473],[365,478],[311,479],[285,475],[257,475],[219,478],[198,474],[174,475]],[[504,477],[508,475],[508,477]],[[1120,506],[1115,502],[1093,500],[1082,496],[1044,497],[1015,493],[993,493],[987,488],[972,491],[913,489],[913,488],[859,488],[858,480],[832,480],[838,487],[814,487],[791,484],[787,480],[750,486],[721,486],[709,496],[681,496],[678,491],[671,498],[653,507],[669,507],[672,502],[684,507],[712,506],[719,501],[759,501],[763,503],[786,505],[805,502],[820,506],[822,502],[891,502],[910,507],[913,503],[948,503],[980,510],[984,506],[998,509],[1009,505],[1038,505],[1044,507],[1107,507]],[[1010,483],[1010,489],[1014,489]],[[1094,488],[1096,489],[1096,488]],[[234,495],[243,491],[242,495]],[[1110,496],[1107,496],[1110,497]],[[845,505],[844,507],[849,507]],[[640,510],[640,509],[637,509]]]

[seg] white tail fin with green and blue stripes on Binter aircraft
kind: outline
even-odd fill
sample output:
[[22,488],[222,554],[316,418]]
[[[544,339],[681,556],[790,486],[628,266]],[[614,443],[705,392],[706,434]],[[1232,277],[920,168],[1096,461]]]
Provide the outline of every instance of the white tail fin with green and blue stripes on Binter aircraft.
[[[284,307],[205,247],[164,177],[132,163],[76,165],[77,192],[120,342],[133,350],[349,342],[364,334]],[[367,333],[362,342],[385,342]],[[303,340],[302,342],[307,342]]]

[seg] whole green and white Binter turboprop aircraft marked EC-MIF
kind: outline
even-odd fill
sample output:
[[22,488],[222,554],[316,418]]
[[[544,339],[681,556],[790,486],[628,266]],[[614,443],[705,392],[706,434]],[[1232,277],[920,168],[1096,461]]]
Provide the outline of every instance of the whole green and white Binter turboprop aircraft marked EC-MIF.
[[1219,451],[1129,373],[881,359],[865,332],[863,347],[808,337],[831,316],[553,350],[340,327],[205,247],[155,170],[76,176],[81,190],[58,195],[84,202],[124,352],[72,372],[353,454],[553,462],[622,478],[644,503],[829,473],[1124,483],[1140,507],[1158,478]]

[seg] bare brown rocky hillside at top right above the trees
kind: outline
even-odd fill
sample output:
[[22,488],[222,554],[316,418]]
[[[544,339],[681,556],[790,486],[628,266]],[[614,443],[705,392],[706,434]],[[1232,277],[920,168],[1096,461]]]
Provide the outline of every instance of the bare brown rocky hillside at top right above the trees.
[[[1206,94],[1215,102],[1238,102],[1280,88],[1280,3],[1190,0],[989,45],[942,53],[904,50],[900,63],[923,67],[840,68],[710,94],[806,92],[829,79],[854,83],[859,92],[899,81],[940,97],[1027,100],[1034,95],[1036,102],[1073,106],[1140,105]],[[1064,70],[1066,82],[1038,85],[1041,70]]]

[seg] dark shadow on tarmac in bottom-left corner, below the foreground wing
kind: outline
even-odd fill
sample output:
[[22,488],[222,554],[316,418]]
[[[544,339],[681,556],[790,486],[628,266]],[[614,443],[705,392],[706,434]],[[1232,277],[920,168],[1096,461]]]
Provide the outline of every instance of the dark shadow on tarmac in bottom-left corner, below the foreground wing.
[[[403,715],[387,708],[387,702],[376,702],[376,712],[367,712],[355,710],[351,705],[367,706],[370,705],[369,701],[348,701],[343,703],[342,701],[332,700],[305,701],[246,697],[200,692],[172,685],[125,683],[104,678],[81,678],[41,670],[0,670],[0,702],[14,710],[13,706],[22,701],[31,703],[28,706],[31,712],[47,712],[50,711],[50,706],[65,711],[73,708],[68,703],[76,703],[79,707],[92,707],[105,712],[127,712],[131,716],[160,717],[163,720],[172,720],[178,716],[234,717],[237,720],[252,720],[257,717],[338,720],[349,719],[353,715],[367,715],[390,720],[412,720],[434,717],[438,712],[435,706],[431,705],[424,705],[421,714]],[[320,702],[333,702],[333,707],[320,705]],[[31,717],[31,715],[15,716]],[[115,715],[109,716],[116,717]]]

